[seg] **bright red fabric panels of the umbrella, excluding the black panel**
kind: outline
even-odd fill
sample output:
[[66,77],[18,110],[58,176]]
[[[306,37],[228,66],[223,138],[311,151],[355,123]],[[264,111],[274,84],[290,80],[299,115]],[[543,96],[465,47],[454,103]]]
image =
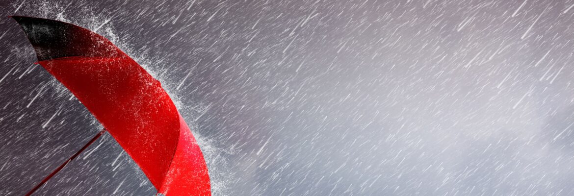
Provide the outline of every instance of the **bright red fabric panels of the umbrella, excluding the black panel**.
[[144,171],[159,193],[211,195],[203,154],[161,84],[129,57],[40,61]]

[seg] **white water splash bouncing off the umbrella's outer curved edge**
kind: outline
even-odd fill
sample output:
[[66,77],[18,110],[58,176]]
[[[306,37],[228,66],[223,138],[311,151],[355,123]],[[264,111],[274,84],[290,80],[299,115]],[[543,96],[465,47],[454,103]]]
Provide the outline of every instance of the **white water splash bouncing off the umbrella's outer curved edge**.
[[[219,147],[217,141],[199,134],[199,132],[202,131],[193,121],[201,115],[205,115],[205,113],[208,112],[208,107],[186,101],[183,92],[177,89],[177,84],[180,83],[180,80],[173,79],[172,77],[169,77],[168,74],[161,74],[165,72],[164,69],[168,68],[168,65],[170,64],[169,61],[162,60],[161,62],[157,62],[153,57],[148,56],[148,54],[145,52],[141,52],[145,51],[145,48],[141,50],[135,49],[133,45],[130,44],[130,42],[133,40],[123,39],[122,37],[118,36],[118,30],[114,27],[113,15],[95,13],[95,11],[93,11],[89,6],[86,6],[80,10],[68,10],[70,4],[71,3],[64,4],[60,1],[33,0],[22,5],[14,5],[18,6],[14,7],[14,15],[55,19],[90,29],[113,42],[116,46],[118,46],[119,49],[123,50],[123,52],[128,54],[131,58],[137,61],[138,64],[146,69],[150,75],[161,81],[162,84],[164,84],[163,87],[165,91],[172,98],[176,107],[179,108],[181,115],[188,122],[193,135],[195,136],[197,142],[200,144],[200,148],[203,151],[205,161],[207,162],[210,171],[212,195],[228,195],[227,184],[230,182],[232,174],[231,171],[227,169],[228,160],[224,158],[227,157],[227,155],[223,154],[232,154],[233,152]],[[14,54],[22,57],[35,56],[33,49],[29,46],[14,48],[14,50],[17,50],[14,52]],[[189,64],[194,63],[190,62]],[[64,85],[52,77],[51,81],[48,82],[48,87],[52,89],[53,96],[71,96],[71,93],[64,87]],[[94,121],[95,119],[92,117],[92,122]],[[101,128],[99,123],[93,124],[94,127]],[[133,162],[131,162],[131,164],[128,163],[128,165],[129,167],[132,167],[133,170],[139,170],[139,168]],[[145,175],[140,175],[139,177],[146,179]],[[115,191],[118,190],[116,189]]]

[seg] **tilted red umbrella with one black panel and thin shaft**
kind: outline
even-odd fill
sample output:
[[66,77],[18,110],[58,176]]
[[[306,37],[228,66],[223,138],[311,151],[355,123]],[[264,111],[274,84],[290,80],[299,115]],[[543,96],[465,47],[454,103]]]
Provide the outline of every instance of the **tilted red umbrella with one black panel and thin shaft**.
[[203,154],[159,81],[109,40],[90,30],[51,19],[12,18],[34,46],[39,64],[102,123],[158,193],[211,195]]

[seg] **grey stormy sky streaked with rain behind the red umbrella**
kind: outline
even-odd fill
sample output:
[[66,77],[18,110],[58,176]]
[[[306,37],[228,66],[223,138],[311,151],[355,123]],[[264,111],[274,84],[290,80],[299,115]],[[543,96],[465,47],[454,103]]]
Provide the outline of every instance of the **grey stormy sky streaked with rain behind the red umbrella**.
[[[94,30],[199,140],[214,195],[573,195],[574,1],[2,1],[0,194],[102,126],[8,15]],[[110,135],[37,195],[154,195]]]

